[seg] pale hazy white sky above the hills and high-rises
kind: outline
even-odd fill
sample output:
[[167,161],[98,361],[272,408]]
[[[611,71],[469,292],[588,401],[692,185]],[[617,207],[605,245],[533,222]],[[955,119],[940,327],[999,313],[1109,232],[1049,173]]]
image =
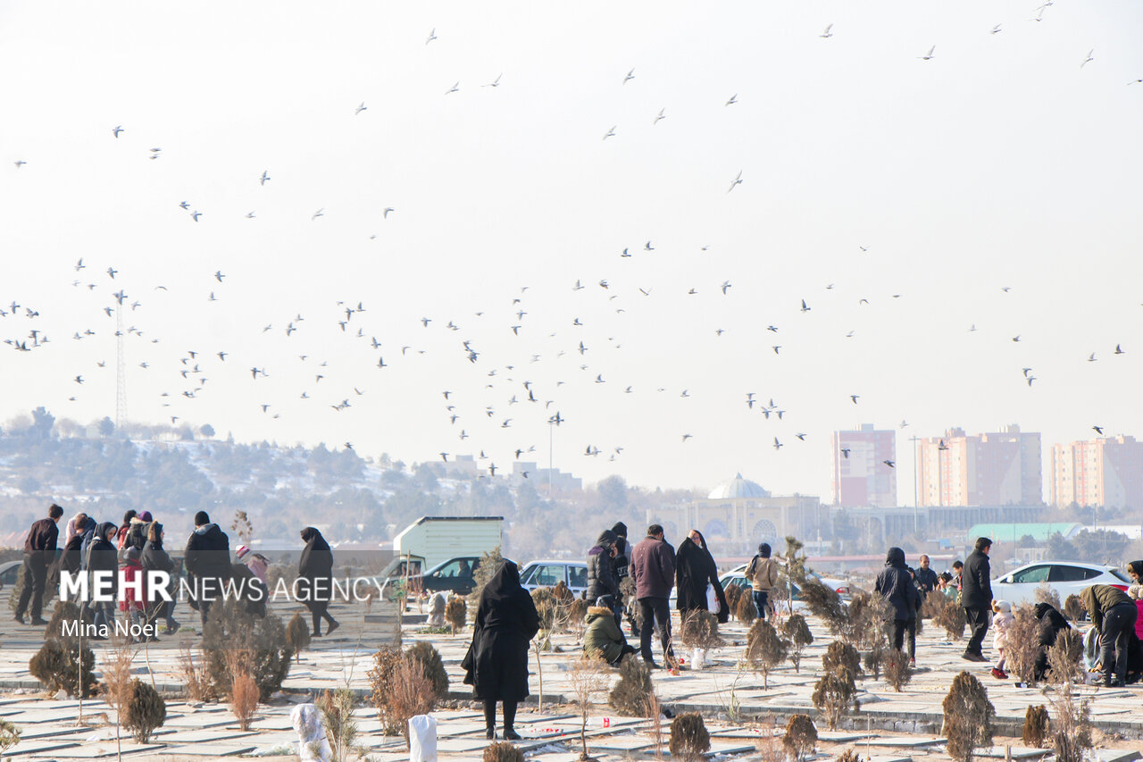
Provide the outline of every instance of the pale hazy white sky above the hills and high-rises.
[[1141,32],[1126,1],[0,1],[0,421],[114,418],[121,317],[128,419],[238,440],[503,473],[551,436],[589,483],[828,501],[869,422],[911,505],[908,437],[1017,423],[1047,476],[1143,434]]

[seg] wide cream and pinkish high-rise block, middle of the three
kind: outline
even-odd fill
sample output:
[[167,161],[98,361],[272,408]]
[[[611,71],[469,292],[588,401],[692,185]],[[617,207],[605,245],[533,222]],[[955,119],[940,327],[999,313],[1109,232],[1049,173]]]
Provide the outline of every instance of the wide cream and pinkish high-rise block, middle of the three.
[[921,506],[1044,505],[1040,435],[1018,426],[917,443],[918,502]]

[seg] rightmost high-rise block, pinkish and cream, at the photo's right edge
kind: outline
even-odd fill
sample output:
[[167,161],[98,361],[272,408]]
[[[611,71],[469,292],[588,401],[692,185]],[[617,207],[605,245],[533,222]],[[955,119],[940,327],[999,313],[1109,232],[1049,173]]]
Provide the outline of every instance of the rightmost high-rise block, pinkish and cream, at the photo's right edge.
[[1143,507],[1143,442],[1100,437],[1052,447],[1052,505]]

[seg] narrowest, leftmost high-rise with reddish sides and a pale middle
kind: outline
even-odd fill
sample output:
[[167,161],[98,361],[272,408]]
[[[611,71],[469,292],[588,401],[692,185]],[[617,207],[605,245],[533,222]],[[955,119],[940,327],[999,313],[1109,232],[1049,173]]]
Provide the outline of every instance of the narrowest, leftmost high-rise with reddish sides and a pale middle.
[[852,431],[834,431],[833,505],[846,508],[896,508],[897,432],[862,423]]

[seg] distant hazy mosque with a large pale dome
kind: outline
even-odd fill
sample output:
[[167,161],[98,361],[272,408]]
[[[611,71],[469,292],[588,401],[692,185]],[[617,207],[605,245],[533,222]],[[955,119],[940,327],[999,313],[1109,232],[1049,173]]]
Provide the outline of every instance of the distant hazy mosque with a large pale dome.
[[648,510],[647,522],[662,524],[668,541],[674,546],[697,529],[708,542],[726,550],[745,553],[759,542],[769,542],[777,551],[785,547],[786,535],[813,539],[820,522],[828,523],[829,515],[816,497],[774,497],[757,482],[735,474],[711,490],[705,500]]

